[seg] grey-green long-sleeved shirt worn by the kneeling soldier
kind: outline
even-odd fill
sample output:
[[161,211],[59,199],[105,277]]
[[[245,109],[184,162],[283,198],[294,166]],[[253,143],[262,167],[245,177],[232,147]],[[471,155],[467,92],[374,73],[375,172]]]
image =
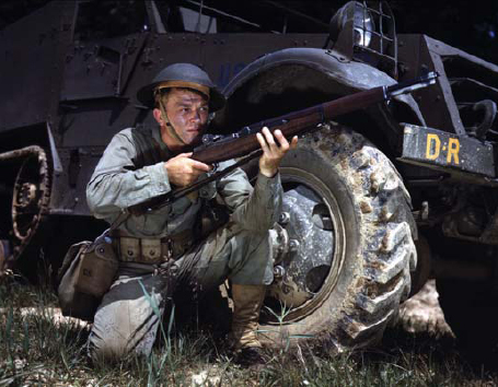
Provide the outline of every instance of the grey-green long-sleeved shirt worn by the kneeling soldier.
[[[159,127],[152,134],[167,150]],[[174,189],[163,162],[135,169],[132,159],[136,153],[130,128],[121,130],[111,140],[86,186],[86,201],[95,218],[113,223],[126,208]],[[233,163],[220,163],[219,171]],[[246,174],[236,168],[201,188],[196,199],[183,197],[150,213],[130,215],[117,228],[137,237],[164,237],[181,233],[194,227],[204,201],[199,197],[211,199],[217,194],[230,210],[231,221],[245,230],[270,228],[281,211],[279,174],[273,178],[259,174],[253,188]]]

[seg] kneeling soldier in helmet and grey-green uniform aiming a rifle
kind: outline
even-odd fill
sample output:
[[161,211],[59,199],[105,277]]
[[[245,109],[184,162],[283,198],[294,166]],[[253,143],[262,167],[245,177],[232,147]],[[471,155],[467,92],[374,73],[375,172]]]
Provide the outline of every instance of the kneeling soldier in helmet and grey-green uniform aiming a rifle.
[[[153,108],[159,127],[128,128],[114,136],[86,188],[91,211],[109,223],[116,223],[128,207],[185,187],[212,169],[189,153],[199,143],[210,113],[225,102],[206,72],[189,63],[171,64],[137,97]],[[271,134],[265,128],[257,140],[263,155],[254,188],[238,168],[196,195],[118,222],[113,231],[118,273],[94,317],[89,338],[93,359],[150,354],[161,319],[152,304],[163,313],[167,277],[158,274],[158,269],[169,268],[164,270],[187,272],[187,282],[200,291],[228,278],[235,360],[263,361],[256,328],[266,286],[273,281],[268,230],[281,210],[278,166],[298,139],[289,144],[279,130]],[[220,168],[231,164],[220,163]],[[198,214],[217,195],[230,220],[199,241]]]

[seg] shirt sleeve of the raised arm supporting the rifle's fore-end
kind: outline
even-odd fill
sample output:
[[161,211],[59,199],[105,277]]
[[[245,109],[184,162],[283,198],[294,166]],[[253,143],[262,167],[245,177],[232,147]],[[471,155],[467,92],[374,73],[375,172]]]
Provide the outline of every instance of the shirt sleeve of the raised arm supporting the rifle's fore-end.
[[267,231],[278,221],[282,208],[280,174],[257,175],[254,188],[241,168],[218,181],[218,192],[232,212],[232,221],[251,231]]

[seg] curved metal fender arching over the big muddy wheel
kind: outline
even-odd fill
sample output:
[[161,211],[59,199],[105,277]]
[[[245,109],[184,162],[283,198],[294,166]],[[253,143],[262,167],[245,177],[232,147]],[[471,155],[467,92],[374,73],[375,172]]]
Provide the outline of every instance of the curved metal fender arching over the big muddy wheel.
[[[334,50],[282,49],[259,57],[231,80],[223,90],[228,97],[227,108],[215,125],[233,128],[289,109],[393,83],[396,81],[386,73],[366,63],[348,61]],[[368,115],[373,114],[380,127],[391,134],[398,133],[401,120],[425,125],[412,95],[397,96],[393,104],[398,107],[395,118],[393,109],[390,112],[385,104],[368,109]]]

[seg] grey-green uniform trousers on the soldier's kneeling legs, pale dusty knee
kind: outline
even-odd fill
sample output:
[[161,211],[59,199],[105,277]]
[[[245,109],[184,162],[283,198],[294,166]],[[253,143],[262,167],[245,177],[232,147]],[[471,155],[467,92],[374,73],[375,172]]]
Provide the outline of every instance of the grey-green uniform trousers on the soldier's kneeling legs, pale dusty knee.
[[[268,232],[241,230],[234,223],[212,232],[165,268],[158,265],[119,262],[117,279],[99,306],[88,340],[93,360],[149,355],[165,308],[167,272],[185,273],[182,285],[200,293],[225,279],[235,284],[270,284],[273,257]],[[174,277],[173,277],[174,279]]]

